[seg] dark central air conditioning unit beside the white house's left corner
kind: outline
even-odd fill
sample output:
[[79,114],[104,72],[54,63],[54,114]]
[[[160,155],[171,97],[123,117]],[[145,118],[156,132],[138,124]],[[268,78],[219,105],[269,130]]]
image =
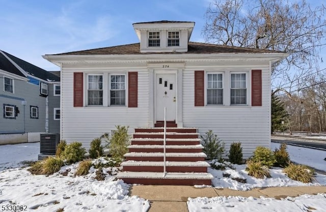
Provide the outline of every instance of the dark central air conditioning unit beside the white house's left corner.
[[40,153],[43,155],[56,155],[59,142],[59,133],[40,134]]

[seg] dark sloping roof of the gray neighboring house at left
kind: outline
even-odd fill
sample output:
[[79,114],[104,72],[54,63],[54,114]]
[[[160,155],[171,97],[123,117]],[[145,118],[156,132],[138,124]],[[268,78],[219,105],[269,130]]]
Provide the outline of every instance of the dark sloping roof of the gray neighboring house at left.
[[[5,51],[2,51],[2,52],[4,52],[10,59],[13,60],[13,62],[15,62],[20,68],[22,68],[25,72],[29,73],[32,76],[38,77],[38,78],[43,79],[45,81],[47,81],[47,80],[58,81],[58,82],[60,81],[60,78],[58,76],[56,76],[56,75],[54,75],[54,74],[52,74],[52,73],[50,73],[50,72],[48,72],[48,71],[46,71],[44,69],[41,69],[41,68],[39,68],[37,66],[34,66],[33,64],[30,64],[30,63],[26,62],[25,60],[22,60],[22,59],[20,59],[18,57],[15,57],[15,56],[13,56],[13,55],[5,52]],[[7,61],[8,61],[7,63],[12,64],[8,59],[7,59]],[[12,66],[14,66],[14,65],[12,65]],[[13,73],[13,74],[17,74],[14,69],[7,69],[5,71],[8,71],[8,72]],[[24,76],[21,72],[20,72],[20,74],[17,74],[17,75]]]

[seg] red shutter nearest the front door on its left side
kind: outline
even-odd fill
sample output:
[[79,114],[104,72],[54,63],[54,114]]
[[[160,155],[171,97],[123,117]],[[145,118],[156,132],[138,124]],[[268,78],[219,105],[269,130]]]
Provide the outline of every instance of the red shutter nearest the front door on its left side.
[[138,107],[138,72],[128,72],[128,107]]

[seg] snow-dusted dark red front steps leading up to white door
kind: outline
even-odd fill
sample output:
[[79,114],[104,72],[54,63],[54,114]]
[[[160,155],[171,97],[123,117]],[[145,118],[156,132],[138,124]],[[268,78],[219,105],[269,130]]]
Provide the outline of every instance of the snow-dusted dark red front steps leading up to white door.
[[167,128],[164,175],[163,128],[135,129],[123,172],[117,177],[128,184],[211,185],[209,164],[202,153],[196,128]]

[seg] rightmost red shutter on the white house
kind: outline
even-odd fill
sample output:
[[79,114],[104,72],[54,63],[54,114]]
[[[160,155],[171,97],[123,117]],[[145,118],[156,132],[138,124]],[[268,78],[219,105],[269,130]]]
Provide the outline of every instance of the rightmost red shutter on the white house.
[[261,94],[261,70],[251,71],[251,105],[262,106]]

